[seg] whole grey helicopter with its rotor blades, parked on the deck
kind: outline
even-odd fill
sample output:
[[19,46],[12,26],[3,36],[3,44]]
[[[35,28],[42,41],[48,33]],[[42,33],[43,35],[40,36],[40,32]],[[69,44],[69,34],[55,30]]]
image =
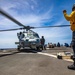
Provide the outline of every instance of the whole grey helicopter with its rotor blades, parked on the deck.
[[[5,16],[6,18],[10,19],[17,25],[19,25],[21,28],[15,28],[15,29],[6,29],[6,30],[0,30],[0,32],[4,31],[15,31],[15,30],[24,30],[23,32],[17,33],[17,37],[19,39],[19,42],[15,42],[17,45],[17,50],[21,51],[21,49],[24,49],[25,47],[30,47],[31,49],[37,49],[39,50],[40,48],[43,49],[41,42],[40,42],[40,37],[39,34],[34,32],[31,29],[35,28],[50,28],[50,27],[67,27],[70,25],[56,25],[56,26],[43,26],[43,27],[31,27],[31,26],[25,26],[24,24],[20,23],[18,20],[13,18],[11,15],[9,15],[7,12],[5,12],[3,9],[0,8],[0,14]],[[22,37],[20,41],[20,35]]]

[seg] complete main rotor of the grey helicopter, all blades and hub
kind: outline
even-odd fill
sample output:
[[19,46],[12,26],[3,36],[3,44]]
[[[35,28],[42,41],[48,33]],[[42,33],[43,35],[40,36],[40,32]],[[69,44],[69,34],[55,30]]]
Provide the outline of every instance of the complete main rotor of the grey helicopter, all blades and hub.
[[20,23],[19,21],[17,21],[15,18],[13,18],[12,16],[10,16],[7,12],[5,12],[3,9],[0,8],[0,14],[4,15],[5,17],[7,17],[8,19],[10,19],[11,21],[15,22],[16,24],[18,24],[19,26],[22,26],[23,28],[17,28],[17,29],[7,29],[7,30],[0,30],[0,32],[2,31],[14,31],[14,30],[21,30],[21,29],[26,29],[26,30],[30,30],[30,29],[35,29],[35,28],[50,28],[50,27],[68,27],[70,25],[56,25],[56,26],[43,26],[43,27],[31,27],[31,26],[25,26],[22,23]]

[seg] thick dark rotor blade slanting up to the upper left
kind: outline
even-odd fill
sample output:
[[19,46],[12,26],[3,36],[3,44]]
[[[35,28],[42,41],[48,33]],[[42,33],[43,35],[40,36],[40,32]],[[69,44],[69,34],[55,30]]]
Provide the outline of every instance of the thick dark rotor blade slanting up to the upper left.
[[15,22],[16,24],[18,24],[19,26],[22,26],[24,28],[26,28],[26,26],[24,26],[22,23],[20,23],[19,21],[17,21],[15,18],[13,18],[11,15],[9,15],[7,12],[5,12],[3,9],[0,8],[0,14],[4,15],[5,17],[7,17],[8,19],[10,19],[11,21]]

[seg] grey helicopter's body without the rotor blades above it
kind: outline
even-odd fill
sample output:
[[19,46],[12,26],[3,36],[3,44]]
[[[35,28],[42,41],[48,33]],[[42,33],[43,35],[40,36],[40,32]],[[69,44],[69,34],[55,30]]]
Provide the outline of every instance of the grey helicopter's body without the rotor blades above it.
[[[19,42],[15,42],[18,45],[18,50],[21,48],[30,47],[31,49],[39,50],[41,48],[40,37],[37,33],[27,30],[20,33],[17,33]],[[21,37],[21,40],[20,40]]]

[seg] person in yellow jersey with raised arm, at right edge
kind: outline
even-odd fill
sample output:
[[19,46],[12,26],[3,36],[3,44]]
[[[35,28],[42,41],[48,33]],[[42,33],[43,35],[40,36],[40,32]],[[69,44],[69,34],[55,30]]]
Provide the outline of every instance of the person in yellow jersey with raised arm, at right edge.
[[73,48],[73,52],[74,52],[74,55],[73,55],[74,63],[73,63],[73,65],[68,66],[68,68],[75,70],[75,4],[72,7],[72,12],[70,15],[67,14],[66,10],[63,10],[63,14],[64,14],[65,19],[67,21],[70,21],[70,25],[71,25],[70,27],[72,30],[72,48]]

